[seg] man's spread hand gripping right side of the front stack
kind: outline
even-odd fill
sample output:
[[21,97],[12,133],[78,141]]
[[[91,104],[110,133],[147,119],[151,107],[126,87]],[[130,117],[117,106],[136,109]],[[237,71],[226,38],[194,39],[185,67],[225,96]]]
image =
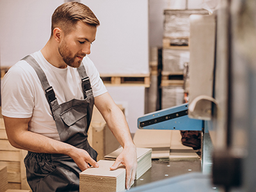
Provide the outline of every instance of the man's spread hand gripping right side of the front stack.
[[125,186],[129,190],[134,182],[138,163],[135,145],[125,147],[110,169],[115,170],[121,163],[124,164],[126,169]]

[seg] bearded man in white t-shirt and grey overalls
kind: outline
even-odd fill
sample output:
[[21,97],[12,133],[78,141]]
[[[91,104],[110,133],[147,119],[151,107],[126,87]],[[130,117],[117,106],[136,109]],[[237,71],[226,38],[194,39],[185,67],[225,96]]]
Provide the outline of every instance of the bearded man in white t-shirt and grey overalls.
[[84,4],[59,6],[45,47],[13,65],[3,79],[2,115],[10,143],[28,150],[24,159],[33,191],[79,191],[79,173],[99,167],[87,141],[93,103],[124,148],[111,170],[125,165],[126,188],[137,158],[125,117],[111,99],[92,61],[99,20]]

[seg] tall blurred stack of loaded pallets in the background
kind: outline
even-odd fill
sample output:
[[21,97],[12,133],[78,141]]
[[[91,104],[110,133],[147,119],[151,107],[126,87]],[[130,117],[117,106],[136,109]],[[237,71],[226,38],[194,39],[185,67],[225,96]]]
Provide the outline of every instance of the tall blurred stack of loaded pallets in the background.
[[184,102],[184,65],[188,65],[192,14],[208,15],[206,10],[164,10],[163,71],[161,109]]

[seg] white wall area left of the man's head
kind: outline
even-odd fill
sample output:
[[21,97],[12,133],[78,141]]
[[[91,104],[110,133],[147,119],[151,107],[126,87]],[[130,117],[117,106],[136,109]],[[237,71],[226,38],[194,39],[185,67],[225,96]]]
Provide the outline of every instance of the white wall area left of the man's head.
[[63,0],[1,0],[1,66],[12,66],[39,51],[51,35],[51,15]]

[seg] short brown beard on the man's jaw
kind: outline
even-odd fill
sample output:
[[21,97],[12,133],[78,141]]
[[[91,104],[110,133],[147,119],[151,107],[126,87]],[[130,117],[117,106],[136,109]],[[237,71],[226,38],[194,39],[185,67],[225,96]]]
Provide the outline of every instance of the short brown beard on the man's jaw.
[[[81,65],[81,60],[75,61],[77,58],[78,54],[75,54],[73,56],[72,52],[70,51],[70,49],[68,49],[67,47],[67,43],[64,40],[63,42],[61,42],[60,46],[58,47],[58,51],[63,59],[63,61],[70,67],[74,67],[77,68]],[[82,58],[84,57],[81,56]]]

